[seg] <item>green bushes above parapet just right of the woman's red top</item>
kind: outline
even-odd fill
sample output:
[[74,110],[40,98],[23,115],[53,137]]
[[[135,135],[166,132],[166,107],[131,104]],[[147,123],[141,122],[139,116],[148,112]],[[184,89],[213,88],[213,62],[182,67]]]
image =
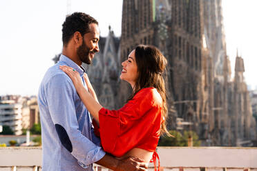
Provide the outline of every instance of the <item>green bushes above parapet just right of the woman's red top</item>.
[[158,146],[175,146],[175,147],[185,147],[187,146],[187,141],[189,135],[193,137],[193,146],[200,146],[201,142],[198,140],[198,135],[193,131],[184,131],[183,134],[176,130],[169,131],[173,137],[162,136]]

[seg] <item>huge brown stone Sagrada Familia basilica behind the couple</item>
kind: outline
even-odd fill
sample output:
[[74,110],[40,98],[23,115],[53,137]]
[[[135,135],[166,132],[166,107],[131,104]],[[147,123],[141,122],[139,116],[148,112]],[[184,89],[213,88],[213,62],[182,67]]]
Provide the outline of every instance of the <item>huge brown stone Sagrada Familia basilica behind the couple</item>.
[[[131,94],[121,63],[138,44],[158,47],[169,61],[164,77],[170,130],[193,130],[202,145],[249,146],[256,140],[244,61],[231,77],[221,0],[124,0],[122,35],[109,27],[86,66],[99,103],[122,107]],[[236,37],[235,37],[236,39]]]

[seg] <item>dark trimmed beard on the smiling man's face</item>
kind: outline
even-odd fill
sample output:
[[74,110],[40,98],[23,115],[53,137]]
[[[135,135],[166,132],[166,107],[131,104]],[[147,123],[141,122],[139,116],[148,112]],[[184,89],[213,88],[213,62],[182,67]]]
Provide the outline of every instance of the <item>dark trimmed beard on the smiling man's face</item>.
[[[95,50],[92,50],[92,51],[95,52]],[[92,51],[89,50],[89,48],[86,46],[83,40],[82,46],[79,46],[79,48],[77,48],[77,56],[79,57],[80,61],[86,64],[91,64],[92,60],[89,57],[89,55],[90,55],[90,52]]]

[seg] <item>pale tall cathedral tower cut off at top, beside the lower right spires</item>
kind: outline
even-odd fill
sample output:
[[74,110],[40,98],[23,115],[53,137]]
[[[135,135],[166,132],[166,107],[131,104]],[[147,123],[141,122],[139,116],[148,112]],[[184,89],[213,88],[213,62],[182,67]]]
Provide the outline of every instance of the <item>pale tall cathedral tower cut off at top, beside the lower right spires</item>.
[[[227,145],[228,142],[228,86],[230,66],[227,57],[225,33],[222,21],[221,0],[204,0],[203,38],[204,38],[204,107],[203,118],[208,118],[208,132],[213,144]],[[204,127],[206,128],[207,125]],[[207,138],[207,137],[202,137]]]

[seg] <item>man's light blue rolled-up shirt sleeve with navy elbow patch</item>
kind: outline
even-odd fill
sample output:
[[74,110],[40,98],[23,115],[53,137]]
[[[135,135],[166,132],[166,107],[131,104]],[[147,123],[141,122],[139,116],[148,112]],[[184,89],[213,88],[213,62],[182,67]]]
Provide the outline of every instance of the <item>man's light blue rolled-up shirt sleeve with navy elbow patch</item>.
[[[46,84],[46,99],[50,117],[60,143],[79,163],[91,165],[104,157],[101,147],[85,137],[79,130],[76,117],[75,97],[77,92],[66,74],[57,74]],[[88,129],[91,125],[88,125]]]

